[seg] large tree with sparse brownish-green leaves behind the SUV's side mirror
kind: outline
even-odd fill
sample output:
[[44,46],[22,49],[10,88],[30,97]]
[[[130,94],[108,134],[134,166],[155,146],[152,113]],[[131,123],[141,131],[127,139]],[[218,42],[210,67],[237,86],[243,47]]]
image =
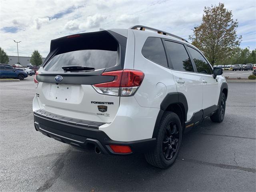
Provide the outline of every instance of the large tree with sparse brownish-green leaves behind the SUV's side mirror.
[[223,3],[204,7],[202,23],[194,27],[194,34],[189,36],[212,66],[230,59],[234,49],[240,45],[242,36],[236,34],[238,21],[232,17],[232,11],[224,8]]

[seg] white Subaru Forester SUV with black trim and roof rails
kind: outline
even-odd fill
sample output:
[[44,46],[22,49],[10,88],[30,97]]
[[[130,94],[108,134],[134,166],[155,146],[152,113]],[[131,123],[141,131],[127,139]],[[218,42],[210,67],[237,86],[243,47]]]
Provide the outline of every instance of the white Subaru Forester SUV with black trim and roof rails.
[[222,122],[221,68],[183,38],[145,26],[51,41],[36,74],[37,131],[96,153],[144,153],[159,168],[176,159],[182,133]]

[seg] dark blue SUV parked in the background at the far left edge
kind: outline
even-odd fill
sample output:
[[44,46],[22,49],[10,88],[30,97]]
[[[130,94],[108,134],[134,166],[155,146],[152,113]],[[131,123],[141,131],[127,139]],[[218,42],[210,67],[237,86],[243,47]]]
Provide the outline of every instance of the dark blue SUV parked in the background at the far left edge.
[[24,80],[26,77],[28,77],[28,74],[25,71],[16,70],[7,64],[0,64],[0,78],[15,78]]

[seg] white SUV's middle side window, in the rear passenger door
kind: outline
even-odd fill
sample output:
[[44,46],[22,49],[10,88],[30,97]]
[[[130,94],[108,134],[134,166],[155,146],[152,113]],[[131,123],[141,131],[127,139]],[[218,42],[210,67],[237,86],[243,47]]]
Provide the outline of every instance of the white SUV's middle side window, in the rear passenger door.
[[172,62],[173,69],[181,71],[194,71],[188,53],[183,44],[165,41],[166,52]]

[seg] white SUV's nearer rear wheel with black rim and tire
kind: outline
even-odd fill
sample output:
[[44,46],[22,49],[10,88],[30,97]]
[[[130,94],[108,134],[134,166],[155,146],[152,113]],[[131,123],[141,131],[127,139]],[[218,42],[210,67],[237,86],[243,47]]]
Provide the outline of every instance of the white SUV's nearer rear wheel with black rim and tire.
[[168,168],[175,162],[181,142],[180,118],[173,112],[165,112],[156,136],[156,146],[145,154],[146,161],[158,168]]

